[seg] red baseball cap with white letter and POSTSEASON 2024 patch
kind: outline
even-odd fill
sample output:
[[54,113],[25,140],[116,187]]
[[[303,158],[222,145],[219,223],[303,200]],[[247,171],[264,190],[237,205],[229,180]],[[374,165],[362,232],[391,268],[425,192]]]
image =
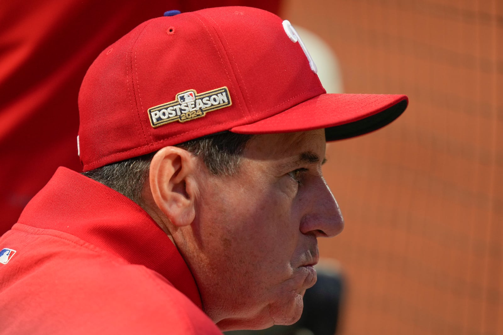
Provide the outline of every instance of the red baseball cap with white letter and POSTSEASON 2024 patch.
[[407,106],[405,95],[327,94],[295,29],[272,13],[178,13],[140,24],[86,73],[77,138],[85,171],[222,131],[324,128],[327,141],[346,139]]

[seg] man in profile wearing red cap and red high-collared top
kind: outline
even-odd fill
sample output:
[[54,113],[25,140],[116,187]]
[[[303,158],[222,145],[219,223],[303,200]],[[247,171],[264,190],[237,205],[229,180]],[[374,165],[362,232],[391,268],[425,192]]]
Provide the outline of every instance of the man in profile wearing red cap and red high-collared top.
[[344,226],[326,141],[407,105],[326,94],[316,71],[288,21],[245,7],[169,11],[104,50],[78,99],[84,172],[59,168],[0,239],[1,332],[295,322],[317,238]]

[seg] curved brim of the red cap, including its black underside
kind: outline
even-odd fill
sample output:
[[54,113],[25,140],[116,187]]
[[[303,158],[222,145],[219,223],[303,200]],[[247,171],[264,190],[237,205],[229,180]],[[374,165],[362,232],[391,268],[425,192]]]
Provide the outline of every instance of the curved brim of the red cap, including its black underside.
[[406,95],[325,93],[261,121],[234,127],[237,134],[276,134],[325,129],[327,141],[378,130],[407,107]]

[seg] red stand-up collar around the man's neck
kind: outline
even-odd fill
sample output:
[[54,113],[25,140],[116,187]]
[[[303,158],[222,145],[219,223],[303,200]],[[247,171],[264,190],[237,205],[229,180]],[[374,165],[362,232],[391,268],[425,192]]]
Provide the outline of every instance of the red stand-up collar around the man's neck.
[[140,206],[97,181],[58,168],[18,222],[71,234],[144,265],[202,308],[194,277],[169,237]]

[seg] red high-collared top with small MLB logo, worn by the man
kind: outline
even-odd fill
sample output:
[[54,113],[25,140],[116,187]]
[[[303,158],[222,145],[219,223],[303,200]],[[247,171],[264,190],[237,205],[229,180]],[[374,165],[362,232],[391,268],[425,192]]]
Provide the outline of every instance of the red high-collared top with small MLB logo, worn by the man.
[[152,218],[67,168],[0,238],[2,334],[221,334],[201,308]]

